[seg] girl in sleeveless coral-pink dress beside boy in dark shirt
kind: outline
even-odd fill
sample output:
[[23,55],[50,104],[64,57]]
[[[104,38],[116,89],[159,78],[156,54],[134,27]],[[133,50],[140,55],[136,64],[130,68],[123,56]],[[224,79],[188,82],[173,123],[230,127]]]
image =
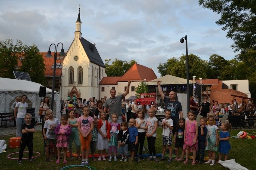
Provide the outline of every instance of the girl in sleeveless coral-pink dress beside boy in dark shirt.
[[183,150],[186,151],[186,160],[184,164],[188,163],[188,153],[193,152],[193,161],[191,165],[196,164],[196,154],[197,154],[197,136],[198,136],[198,123],[195,121],[195,112],[190,110],[188,112],[188,119],[185,122],[185,130],[184,130],[184,145]]

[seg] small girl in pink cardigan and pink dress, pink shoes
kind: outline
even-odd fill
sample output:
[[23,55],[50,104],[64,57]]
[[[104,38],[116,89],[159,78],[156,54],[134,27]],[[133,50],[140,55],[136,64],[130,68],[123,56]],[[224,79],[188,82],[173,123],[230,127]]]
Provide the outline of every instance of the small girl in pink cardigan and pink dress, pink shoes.
[[64,151],[64,161],[63,163],[67,163],[67,148],[69,144],[69,135],[72,133],[71,127],[67,124],[68,116],[62,115],[60,117],[61,124],[57,125],[54,132],[56,133],[56,140],[57,144],[56,147],[58,148],[58,159],[56,163],[60,162],[60,154],[63,147]]

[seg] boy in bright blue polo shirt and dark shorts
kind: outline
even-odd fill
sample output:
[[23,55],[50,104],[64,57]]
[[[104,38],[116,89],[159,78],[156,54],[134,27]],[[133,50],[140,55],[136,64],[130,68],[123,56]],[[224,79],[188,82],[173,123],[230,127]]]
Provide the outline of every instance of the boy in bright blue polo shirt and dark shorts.
[[137,155],[135,155],[135,145],[138,145],[138,129],[134,126],[135,125],[135,119],[130,119],[129,121],[130,127],[128,128],[129,131],[129,142],[128,142],[128,151],[131,152],[131,158],[129,161],[135,160],[136,162],[139,162],[140,159],[137,158]]

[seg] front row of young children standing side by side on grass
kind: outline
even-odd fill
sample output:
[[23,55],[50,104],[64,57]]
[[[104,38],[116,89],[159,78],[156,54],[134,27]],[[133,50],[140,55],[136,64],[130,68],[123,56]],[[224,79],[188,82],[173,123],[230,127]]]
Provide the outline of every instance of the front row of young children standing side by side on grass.
[[[81,165],[89,165],[89,153],[91,151],[91,160],[97,161],[94,157],[96,149],[99,152],[98,161],[105,161],[105,153],[108,150],[109,159],[117,161],[117,151],[121,154],[120,161],[128,161],[128,151],[130,151],[129,161],[139,162],[144,160],[142,150],[145,138],[148,141],[149,158],[147,161],[154,160],[159,162],[156,157],[155,142],[157,136],[158,119],[154,117],[154,108],[148,109],[149,117],[145,119],[145,113],[141,110],[137,119],[130,119],[127,122],[117,122],[117,114],[111,115],[111,122],[106,120],[106,113],[101,111],[99,118],[89,116],[90,108],[83,108],[83,115],[76,118],[75,111],[70,109],[68,115],[62,115],[60,122],[53,118],[52,110],[46,111],[45,123],[43,127],[43,135],[46,141],[46,160],[53,161],[50,158],[50,147],[52,145],[54,153],[58,153],[56,163],[60,163],[61,151],[64,151],[63,163],[67,163],[67,148],[69,148],[69,159],[73,160],[72,143],[75,142],[78,159]],[[191,165],[202,164],[204,161],[205,150],[208,151],[209,160],[205,162],[211,166],[215,165],[215,152],[219,142],[219,158],[221,160],[224,154],[224,160],[227,160],[229,150],[231,148],[229,140],[230,124],[223,122],[220,126],[221,132],[218,135],[218,126],[216,126],[215,116],[201,117],[199,125],[195,121],[194,111],[187,114],[188,120],[180,118],[177,128],[174,129],[173,121],[170,118],[171,110],[165,110],[165,119],[162,121],[162,157],[165,160],[166,146],[169,148],[169,158],[166,163],[172,162],[172,134],[174,133],[174,145],[176,158],[174,161],[183,161],[188,163],[189,152],[193,153]],[[32,116],[26,114],[26,123],[22,126],[22,142],[20,145],[19,161],[22,163],[23,151],[26,145],[29,148],[29,161],[33,162],[33,132],[34,125],[31,124]],[[173,132],[172,132],[173,131]],[[78,133],[79,132],[79,133]],[[81,157],[80,157],[81,147]],[[181,157],[179,156],[179,148],[181,148]],[[139,152],[139,154],[138,154]]]

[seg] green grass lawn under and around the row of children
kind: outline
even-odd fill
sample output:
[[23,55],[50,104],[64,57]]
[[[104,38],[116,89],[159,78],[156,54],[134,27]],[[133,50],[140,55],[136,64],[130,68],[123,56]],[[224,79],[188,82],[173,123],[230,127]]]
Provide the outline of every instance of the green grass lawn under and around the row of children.
[[[231,136],[236,136],[237,133],[240,130],[232,130],[231,131]],[[254,132],[256,133],[255,130],[246,130],[247,132]],[[156,140],[156,150],[157,153],[162,153],[162,138],[161,138],[161,133],[162,133],[162,128],[158,127],[157,129],[157,140]],[[61,163],[56,164],[55,163],[55,159],[53,162],[47,162],[45,160],[46,156],[43,153],[44,151],[44,143],[43,143],[43,137],[41,132],[37,131],[34,133],[34,151],[36,152],[40,152],[41,155],[37,158],[35,158],[35,162],[34,163],[30,163],[28,160],[23,160],[23,164],[22,165],[18,165],[17,160],[11,160],[8,159],[7,155],[14,153],[14,152],[18,152],[19,148],[8,148],[8,139],[14,137],[14,135],[6,135],[6,136],[0,136],[0,139],[4,139],[7,142],[7,149],[6,149],[6,153],[1,153],[0,154],[0,166],[1,166],[1,170],[6,170],[6,169],[31,169],[31,170],[35,170],[35,169],[61,169],[64,166],[69,166],[69,165],[79,165],[81,162],[77,159],[70,161],[68,159],[68,163],[67,164],[63,164],[63,160],[61,160]],[[147,140],[146,140],[147,141]],[[241,164],[242,166],[252,170],[252,169],[256,169],[256,157],[255,157],[255,151],[256,151],[256,139],[235,139],[235,138],[230,138],[229,140],[230,144],[231,144],[231,150],[230,150],[230,154],[228,156],[228,159],[236,159],[236,162]],[[145,146],[147,144],[145,143]],[[73,145],[73,152],[75,152],[75,146]],[[173,147],[172,147],[173,148]],[[25,151],[27,151],[27,148],[25,149]],[[148,151],[144,151],[143,154],[148,154]],[[97,154],[97,152],[96,152]],[[36,154],[34,154],[36,155]],[[192,155],[192,153],[190,153],[190,155]],[[63,156],[63,154],[62,154]],[[206,152],[206,156],[208,156],[207,152]],[[18,154],[13,155],[14,158],[18,158]],[[24,157],[28,157],[28,154],[25,153]],[[159,158],[160,159],[160,158]],[[139,163],[136,162],[120,162],[119,161],[120,158],[118,159],[117,162],[114,162],[112,160],[112,162],[108,162],[108,161],[96,161],[93,162],[90,160],[90,166],[95,167],[96,169],[102,170],[102,169],[111,169],[111,170],[115,170],[115,169],[122,169],[122,170],[132,170],[132,169],[156,169],[156,170],[160,170],[160,169],[225,169],[223,166],[221,166],[220,164],[216,163],[215,166],[210,166],[210,165],[206,165],[206,164],[202,164],[202,165],[195,165],[192,166],[191,164],[191,160],[189,161],[189,163],[187,165],[184,165],[183,162],[176,162],[173,161],[171,164],[166,164],[166,161],[164,162],[159,162],[156,163],[154,161],[146,161],[146,160],[141,160]],[[215,160],[218,160],[218,153],[216,153],[216,158]],[[70,169],[84,169],[84,167],[74,167],[74,168],[70,168]]]

